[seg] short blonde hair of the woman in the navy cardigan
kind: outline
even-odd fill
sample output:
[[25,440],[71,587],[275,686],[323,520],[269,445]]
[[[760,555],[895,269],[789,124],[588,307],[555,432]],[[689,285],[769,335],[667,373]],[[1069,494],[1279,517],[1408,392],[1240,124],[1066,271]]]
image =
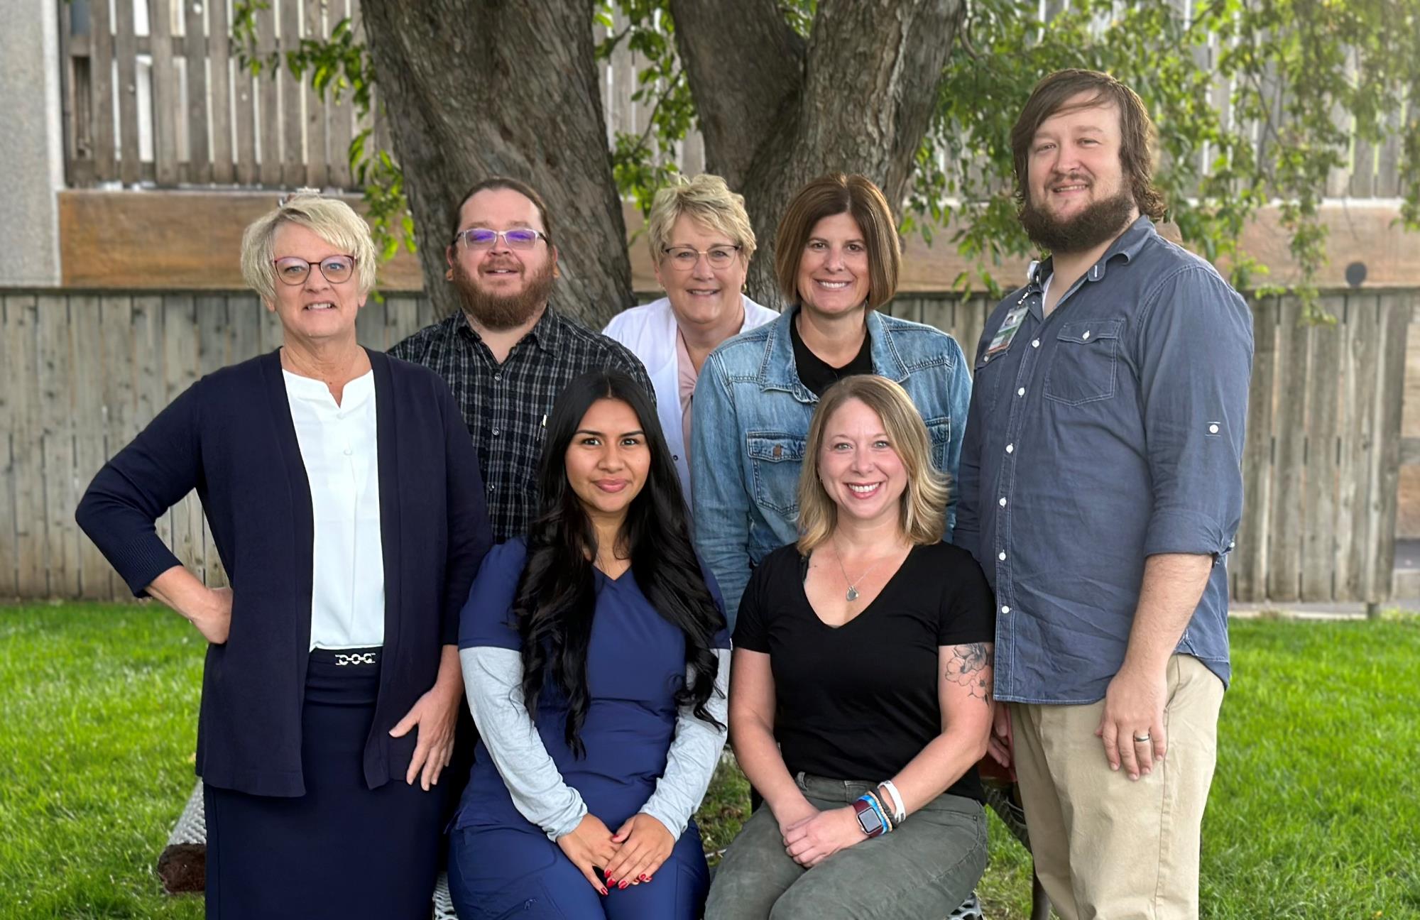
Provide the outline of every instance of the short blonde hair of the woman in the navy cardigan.
[[[294,223],[315,233],[331,246],[355,257],[355,283],[359,292],[366,294],[375,287],[375,243],[369,236],[369,224],[339,199],[324,197],[315,189],[300,189],[287,196],[274,212],[263,214],[247,226],[241,234],[241,278],[261,295],[261,300],[275,300],[275,231]],[[317,271],[320,271],[317,268]]]

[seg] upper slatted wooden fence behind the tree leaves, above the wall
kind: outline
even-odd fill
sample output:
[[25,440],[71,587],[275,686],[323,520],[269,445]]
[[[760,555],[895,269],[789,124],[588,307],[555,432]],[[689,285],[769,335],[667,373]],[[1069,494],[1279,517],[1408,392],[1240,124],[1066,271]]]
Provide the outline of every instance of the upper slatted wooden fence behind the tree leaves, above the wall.
[[[61,67],[68,182],[75,187],[121,182],[159,187],[241,185],[291,189],[302,185],[351,189],[348,163],[356,124],[346,94],[322,102],[288,71],[253,77],[241,68],[230,41],[231,0],[41,0],[60,9]],[[412,0],[415,1],[415,0]],[[1193,0],[1177,0],[1180,16]],[[1062,0],[1044,0],[1041,20],[1061,13]],[[591,11],[588,11],[591,16]],[[324,38],[349,17],[359,33],[359,0],[268,0],[253,11],[258,57],[285,53],[301,38]],[[618,13],[612,30],[625,20]],[[1103,27],[1103,23],[1100,23]],[[606,37],[595,27],[595,38]],[[1248,41],[1252,37],[1231,41]],[[1227,50],[1218,35],[1193,48],[1200,71],[1213,72]],[[608,142],[618,132],[645,132],[652,105],[632,99],[640,61],[625,43],[604,64],[602,111]],[[1214,77],[1208,99],[1225,128],[1235,126],[1234,85]],[[1268,84],[1277,98],[1282,94]],[[1390,131],[1379,146],[1356,138],[1350,162],[1332,170],[1331,197],[1400,195],[1400,131],[1420,118],[1416,102],[1387,115]],[[378,109],[378,106],[376,106]],[[1271,133],[1241,125],[1258,138],[1258,158]],[[1167,125],[1162,125],[1167,131]],[[390,149],[383,119],[373,119],[375,142]],[[1196,153],[1207,168],[1216,156],[1207,143]],[[692,131],[674,156],[682,170],[704,169],[704,143]],[[943,155],[943,169],[957,169]]]

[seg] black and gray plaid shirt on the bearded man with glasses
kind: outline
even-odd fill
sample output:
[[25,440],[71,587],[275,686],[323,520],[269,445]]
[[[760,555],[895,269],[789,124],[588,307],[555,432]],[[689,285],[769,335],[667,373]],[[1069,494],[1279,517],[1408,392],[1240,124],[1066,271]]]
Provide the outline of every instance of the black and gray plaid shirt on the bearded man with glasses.
[[537,464],[552,403],[584,371],[616,368],[655,399],[650,378],[625,345],[551,307],[501,365],[463,314],[425,327],[389,349],[449,382],[479,451],[488,521],[498,542],[523,537],[537,511]]

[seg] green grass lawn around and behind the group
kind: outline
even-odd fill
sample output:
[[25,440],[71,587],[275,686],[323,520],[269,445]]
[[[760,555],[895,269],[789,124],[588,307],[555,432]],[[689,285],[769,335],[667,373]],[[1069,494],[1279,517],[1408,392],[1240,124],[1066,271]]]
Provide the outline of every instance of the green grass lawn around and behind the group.
[[[1420,622],[1233,625],[1203,828],[1213,920],[1420,917]],[[155,606],[0,606],[0,917],[200,917],[152,873],[192,791],[202,643]],[[747,806],[723,771],[709,849]],[[1030,859],[993,818],[980,892],[1021,920]]]

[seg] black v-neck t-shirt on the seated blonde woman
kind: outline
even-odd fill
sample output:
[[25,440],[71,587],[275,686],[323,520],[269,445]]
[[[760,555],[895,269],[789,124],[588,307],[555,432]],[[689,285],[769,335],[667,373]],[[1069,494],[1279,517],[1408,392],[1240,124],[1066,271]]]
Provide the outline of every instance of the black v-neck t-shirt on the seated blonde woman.
[[[791,774],[890,779],[941,734],[939,646],[995,640],[991,588],[967,551],[913,547],[872,603],[835,629],[804,593],[807,571],[792,544],[755,566],[734,645],[770,656],[774,738]],[[981,801],[976,767],[947,792]]]

